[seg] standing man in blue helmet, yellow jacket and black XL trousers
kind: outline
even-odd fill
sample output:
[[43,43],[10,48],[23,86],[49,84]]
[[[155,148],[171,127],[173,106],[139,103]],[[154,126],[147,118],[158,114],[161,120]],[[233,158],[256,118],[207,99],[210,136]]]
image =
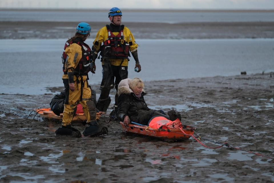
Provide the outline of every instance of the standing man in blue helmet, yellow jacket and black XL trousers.
[[118,84],[122,79],[128,77],[128,57],[130,56],[130,52],[136,62],[135,71],[140,72],[141,65],[138,60],[138,44],[135,42],[130,30],[124,25],[121,25],[121,10],[117,7],[111,8],[108,17],[111,22],[110,25],[106,25],[98,31],[92,46],[93,61],[95,61],[100,52],[103,67],[103,78],[100,87],[101,94],[96,108],[99,111],[106,112],[110,104],[110,89],[115,87],[115,110],[113,112],[117,113]]

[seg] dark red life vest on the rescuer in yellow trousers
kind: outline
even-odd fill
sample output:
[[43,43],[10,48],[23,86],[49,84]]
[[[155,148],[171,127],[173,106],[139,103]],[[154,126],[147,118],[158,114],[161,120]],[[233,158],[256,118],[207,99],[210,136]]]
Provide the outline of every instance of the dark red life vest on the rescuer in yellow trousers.
[[86,43],[84,43],[82,41],[77,41],[77,40],[65,43],[65,47],[64,47],[64,51],[63,51],[63,55],[62,55],[63,72],[64,72],[64,74],[68,73],[67,71],[65,71],[65,63],[66,63],[67,56],[68,56],[68,55],[66,55],[65,50],[72,43],[76,43],[82,48],[82,58],[74,70],[74,75],[87,75],[87,73],[90,71],[90,64],[92,62],[91,61],[92,60],[91,49]]

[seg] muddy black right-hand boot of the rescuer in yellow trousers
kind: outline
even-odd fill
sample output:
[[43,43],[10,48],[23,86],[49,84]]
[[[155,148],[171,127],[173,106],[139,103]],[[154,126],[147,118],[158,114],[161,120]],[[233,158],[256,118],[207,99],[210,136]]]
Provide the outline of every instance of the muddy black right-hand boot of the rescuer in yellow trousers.
[[88,137],[96,137],[103,134],[108,134],[108,129],[104,126],[98,126],[96,120],[88,122],[88,127],[85,128],[83,135]]

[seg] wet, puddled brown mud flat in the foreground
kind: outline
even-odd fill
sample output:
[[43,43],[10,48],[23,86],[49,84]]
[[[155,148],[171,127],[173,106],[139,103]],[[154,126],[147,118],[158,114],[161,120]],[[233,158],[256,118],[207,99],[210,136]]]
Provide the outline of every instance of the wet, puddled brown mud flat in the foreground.
[[[145,99],[151,108],[180,111],[183,123],[204,138],[274,157],[273,81],[269,74],[149,81]],[[92,88],[99,93],[99,85]],[[269,158],[205,148],[192,138],[168,142],[125,134],[118,122],[105,124],[107,116],[100,124],[108,135],[58,138],[60,122],[26,119],[52,97],[50,91],[0,95],[0,182],[274,182]]]

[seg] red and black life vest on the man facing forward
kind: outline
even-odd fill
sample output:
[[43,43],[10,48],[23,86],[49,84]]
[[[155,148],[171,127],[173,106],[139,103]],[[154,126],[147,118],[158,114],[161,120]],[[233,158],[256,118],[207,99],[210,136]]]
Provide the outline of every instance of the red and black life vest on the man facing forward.
[[108,39],[102,45],[101,55],[104,58],[128,58],[129,46],[132,41],[127,42],[124,40],[124,25],[118,35],[114,35],[110,31],[110,26],[106,25],[108,30]]

